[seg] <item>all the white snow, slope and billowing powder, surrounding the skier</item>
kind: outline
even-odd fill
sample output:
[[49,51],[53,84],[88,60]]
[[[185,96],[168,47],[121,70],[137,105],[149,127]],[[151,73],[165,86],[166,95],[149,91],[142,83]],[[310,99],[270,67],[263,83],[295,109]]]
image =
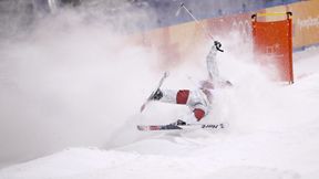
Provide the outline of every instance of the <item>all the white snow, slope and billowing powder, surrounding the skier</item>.
[[215,92],[205,118],[229,127],[141,133],[136,124],[187,113],[157,103],[138,109],[165,70],[163,87],[195,88],[210,44],[168,69],[156,52],[127,46],[107,25],[85,20],[60,14],[23,41],[1,42],[0,179],[319,177],[318,50],[294,54],[296,83],[284,85],[229,33],[218,62],[234,87]]

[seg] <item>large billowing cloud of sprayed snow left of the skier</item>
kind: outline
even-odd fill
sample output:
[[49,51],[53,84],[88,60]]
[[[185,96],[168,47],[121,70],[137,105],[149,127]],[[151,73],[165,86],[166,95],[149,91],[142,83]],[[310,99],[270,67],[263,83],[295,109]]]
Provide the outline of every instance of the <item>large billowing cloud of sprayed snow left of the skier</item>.
[[0,161],[102,147],[138,112],[156,56],[111,22],[64,10],[0,42]]

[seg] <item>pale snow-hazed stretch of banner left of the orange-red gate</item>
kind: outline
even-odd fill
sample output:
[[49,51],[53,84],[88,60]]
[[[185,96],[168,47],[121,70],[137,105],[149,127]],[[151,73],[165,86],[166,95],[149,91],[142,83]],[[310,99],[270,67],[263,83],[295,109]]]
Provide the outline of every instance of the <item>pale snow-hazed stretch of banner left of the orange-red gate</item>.
[[[156,49],[162,56],[161,59],[174,65],[187,57],[198,48],[209,43],[212,39],[205,33],[205,30],[214,36],[228,35],[231,31],[239,31],[243,40],[251,36],[250,14],[229,15],[217,19],[203,20],[199,23],[187,22],[173,27],[156,29],[144,32],[135,39],[138,44]],[[210,42],[213,44],[213,42]]]

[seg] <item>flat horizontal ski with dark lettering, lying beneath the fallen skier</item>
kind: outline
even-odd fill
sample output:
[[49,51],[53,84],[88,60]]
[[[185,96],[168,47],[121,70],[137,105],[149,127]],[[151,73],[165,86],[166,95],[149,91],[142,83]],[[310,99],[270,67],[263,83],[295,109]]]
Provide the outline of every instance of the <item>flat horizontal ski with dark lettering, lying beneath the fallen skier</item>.
[[228,126],[226,123],[219,124],[187,124],[187,125],[137,125],[138,130],[150,131],[150,130],[187,130],[187,129],[209,129],[218,130],[224,129]]

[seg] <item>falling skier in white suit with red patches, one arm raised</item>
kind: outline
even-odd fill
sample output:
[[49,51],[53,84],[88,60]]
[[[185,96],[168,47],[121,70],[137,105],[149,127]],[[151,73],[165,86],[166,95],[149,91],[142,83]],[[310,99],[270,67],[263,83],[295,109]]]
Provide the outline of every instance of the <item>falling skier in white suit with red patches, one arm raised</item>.
[[210,112],[214,90],[231,86],[229,81],[225,81],[219,76],[216,54],[217,51],[223,52],[220,46],[220,42],[214,41],[214,45],[206,57],[208,80],[202,81],[198,90],[162,90],[158,87],[155,93],[148,97],[148,101],[173,103],[189,107],[192,113],[182,119],[177,119],[173,125],[183,126],[200,122]]

